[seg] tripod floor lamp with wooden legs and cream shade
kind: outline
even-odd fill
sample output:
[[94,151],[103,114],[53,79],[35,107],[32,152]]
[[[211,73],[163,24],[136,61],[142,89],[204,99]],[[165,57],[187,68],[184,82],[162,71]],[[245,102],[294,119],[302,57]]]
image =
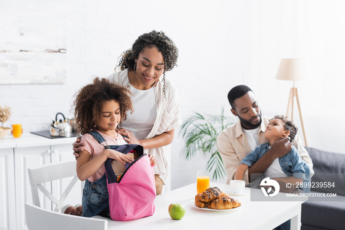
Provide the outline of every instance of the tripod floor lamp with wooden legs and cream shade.
[[292,80],[293,87],[290,90],[289,103],[287,105],[286,116],[293,120],[293,103],[296,98],[298,112],[300,114],[301,126],[304,136],[304,142],[307,146],[306,132],[304,130],[300,102],[298,100],[297,88],[295,88],[295,80],[303,80],[307,77],[307,66],[305,58],[281,59],[280,65],[276,74],[276,79]]

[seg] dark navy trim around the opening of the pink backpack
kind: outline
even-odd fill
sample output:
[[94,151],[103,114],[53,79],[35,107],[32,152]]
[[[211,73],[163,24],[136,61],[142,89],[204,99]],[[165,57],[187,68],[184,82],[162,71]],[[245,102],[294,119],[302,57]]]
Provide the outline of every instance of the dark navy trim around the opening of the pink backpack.
[[[120,153],[127,154],[132,150],[136,151],[139,156],[141,156],[144,152],[144,148],[141,145],[134,145],[134,144],[127,144],[127,145],[119,145],[116,148],[116,151]],[[111,160],[110,158],[106,159],[104,162],[106,178],[108,180],[108,184],[117,182],[117,176],[114,173],[114,170],[111,167]],[[133,161],[134,162],[134,161]]]

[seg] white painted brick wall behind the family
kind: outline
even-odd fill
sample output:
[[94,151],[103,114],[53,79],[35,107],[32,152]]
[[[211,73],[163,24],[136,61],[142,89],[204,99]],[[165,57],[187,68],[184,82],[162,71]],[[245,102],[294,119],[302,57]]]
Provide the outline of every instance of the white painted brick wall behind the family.
[[[182,118],[193,111],[219,114],[222,106],[230,115],[226,95],[238,84],[247,84],[256,92],[265,115],[284,114],[291,85],[274,80],[274,77],[283,57],[282,50],[291,46],[280,43],[285,34],[278,31],[281,27],[278,19],[282,17],[279,10],[283,6],[279,2],[50,0],[47,3],[44,0],[17,0],[13,3],[2,0],[0,8],[14,7],[19,13],[32,7],[45,12],[55,12],[56,8],[64,11],[66,20],[56,20],[62,20],[58,24],[66,23],[67,79],[63,84],[0,84],[0,105],[13,108],[12,117],[21,119],[24,132],[46,130],[56,113],[70,115],[72,96],[80,87],[90,83],[93,77],[106,77],[112,73],[119,55],[130,48],[139,35],[162,30],[179,49],[178,67],[166,76],[177,85]],[[6,15],[8,10],[2,12],[1,19],[11,17]],[[47,17],[54,21],[49,13],[37,17],[41,17],[41,22]],[[25,23],[22,26],[25,27]],[[27,31],[24,36],[27,34],[35,35],[35,31]],[[1,36],[11,40],[9,34]],[[39,41],[40,38],[36,39]],[[1,45],[0,42],[0,50]],[[322,73],[325,71],[327,69]],[[322,89],[323,81],[320,82],[316,89]],[[307,88],[310,83],[300,86]],[[303,96],[309,98],[309,94],[300,92],[300,102],[306,108],[303,112],[307,114],[305,126],[310,139],[315,136],[318,140],[317,135],[313,136],[313,124],[319,119],[311,112],[318,110],[317,103],[303,99]],[[323,100],[325,104],[326,99]],[[326,119],[329,116],[326,115]],[[313,122],[309,123],[309,119]],[[334,146],[310,142],[316,148]],[[202,155],[185,161],[180,156],[182,146],[176,130],[171,145],[172,188],[194,182],[196,170],[204,168],[207,161]]]

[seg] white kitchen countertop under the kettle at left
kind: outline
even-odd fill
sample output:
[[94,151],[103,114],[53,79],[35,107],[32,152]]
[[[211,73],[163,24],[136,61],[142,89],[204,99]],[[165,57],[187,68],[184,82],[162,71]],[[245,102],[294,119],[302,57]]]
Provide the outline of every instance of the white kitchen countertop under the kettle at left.
[[75,140],[76,137],[50,139],[32,133],[23,133],[20,138],[14,138],[11,134],[7,134],[0,139],[0,149],[71,144]]

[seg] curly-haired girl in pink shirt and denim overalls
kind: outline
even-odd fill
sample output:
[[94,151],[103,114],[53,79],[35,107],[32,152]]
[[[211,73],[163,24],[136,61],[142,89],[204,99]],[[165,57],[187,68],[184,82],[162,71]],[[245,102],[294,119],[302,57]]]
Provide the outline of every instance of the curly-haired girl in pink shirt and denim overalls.
[[[123,86],[98,77],[93,84],[83,87],[76,95],[73,105],[78,129],[82,134],[84,150],[77,159],[77,175],[85,181],[82,198],[82,216],[106,216],[109,213],[108,190],[104,162],[107,158],[122,164],[134,161],[131,156],[104,146],[125,145],[127,142],[115,129],[133,111],[130,91]],[[151,165],[156,165],[149,155]]]

